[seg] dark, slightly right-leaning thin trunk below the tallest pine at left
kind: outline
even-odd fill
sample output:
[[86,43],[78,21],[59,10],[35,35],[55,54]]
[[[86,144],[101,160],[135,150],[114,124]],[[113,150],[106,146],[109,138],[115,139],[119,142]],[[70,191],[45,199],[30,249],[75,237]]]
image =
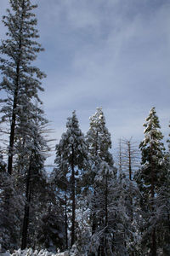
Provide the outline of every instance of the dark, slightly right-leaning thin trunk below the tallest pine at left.
[[[31,160],[32,160],[32,154],[31,154]],[[22,228],[22,242],[21,242],[22,250],[24,250],[27,246],[27,234],[28,234],[28,225],[29,225],[29,218],[30,218],[31,160],[30,160],[30,166],[28,169],[27,177],[26,177],[26,205],[25,205],[25,214],[24,214],[23,228]]]

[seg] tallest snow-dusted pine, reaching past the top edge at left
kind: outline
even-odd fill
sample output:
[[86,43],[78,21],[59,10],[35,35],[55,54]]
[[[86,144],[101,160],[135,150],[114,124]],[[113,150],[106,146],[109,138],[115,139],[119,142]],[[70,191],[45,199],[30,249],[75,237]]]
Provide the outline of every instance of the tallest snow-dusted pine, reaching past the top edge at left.
[[45,75],[31,62],[37,58],[42,47],[37,43],[37,19],[32,10],[37,5],[30,0],[10,0],[11,10],[3,16],[3,24],[7,27],[7,39],[0,45],[0,69],[3,81],[1,90],[7,94],[1,109],[3,121],[9,121],[8,173],[13,170],[15,128],[18,117],[27,106],[27,100],[35,98],[40,102],[38,90],[43,90],[40,79]]

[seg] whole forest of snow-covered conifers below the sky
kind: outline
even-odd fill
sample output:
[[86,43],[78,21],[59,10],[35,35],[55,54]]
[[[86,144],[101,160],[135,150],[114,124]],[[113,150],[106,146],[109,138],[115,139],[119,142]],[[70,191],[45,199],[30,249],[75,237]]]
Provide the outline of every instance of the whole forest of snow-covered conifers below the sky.
[[46,172],[37,5],[9,3],[0,45],[0,255],[170,255],[170,138],[156,108],[142,142],[120,139],[116,156],[102,108],[86,135],[73,111]]

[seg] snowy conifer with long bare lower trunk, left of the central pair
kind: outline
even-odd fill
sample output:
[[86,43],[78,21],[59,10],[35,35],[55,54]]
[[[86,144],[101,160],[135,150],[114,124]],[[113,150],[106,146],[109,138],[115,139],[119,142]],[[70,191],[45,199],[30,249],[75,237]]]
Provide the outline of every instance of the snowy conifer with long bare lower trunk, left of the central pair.
[[[88,166],[88,151],[82,131],[79,128],[76,112],[68,118],[66,132],[62,134],[59,144],[56,145],[55,172],[64,177],[65,185],[69,184],[71,191],[71,246],[76,241],[76,195],[80,193],[80,172]],[[58,175],[58,173],[57,173]],[[62,181],[63,183],[63,181]],[[66,188],[64,186],[66,193]],[[67,195],[66,195],[67,197]],[[66,198],[65,198],[66,200]],[[66,201],[65,201],[66,206]],[[66,210],[65,210],[66,214]],[[66,223],[65,223],[66,224]],[[66,224],[67,225],[67,224]],[[66,235],[66,234],[65,234]]]

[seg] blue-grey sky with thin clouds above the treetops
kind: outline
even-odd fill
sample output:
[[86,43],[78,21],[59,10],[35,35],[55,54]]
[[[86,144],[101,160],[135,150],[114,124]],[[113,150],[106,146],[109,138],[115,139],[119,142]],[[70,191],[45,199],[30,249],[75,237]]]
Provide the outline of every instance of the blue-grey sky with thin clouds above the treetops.
[[[165,141],[170,120],[170,0],[32,0],[45,49],[34,65],[47,74],[41,93],[49,136],[59,143],[77,111],[89,128],[105,113],[112,147],[120,137],[140,142],[144,119],[156,107]],[[0,16],[8,0],[0,0]],[[0,38],[5,38],[0,22]],[[47,164],[54,164],[54,152]]]

